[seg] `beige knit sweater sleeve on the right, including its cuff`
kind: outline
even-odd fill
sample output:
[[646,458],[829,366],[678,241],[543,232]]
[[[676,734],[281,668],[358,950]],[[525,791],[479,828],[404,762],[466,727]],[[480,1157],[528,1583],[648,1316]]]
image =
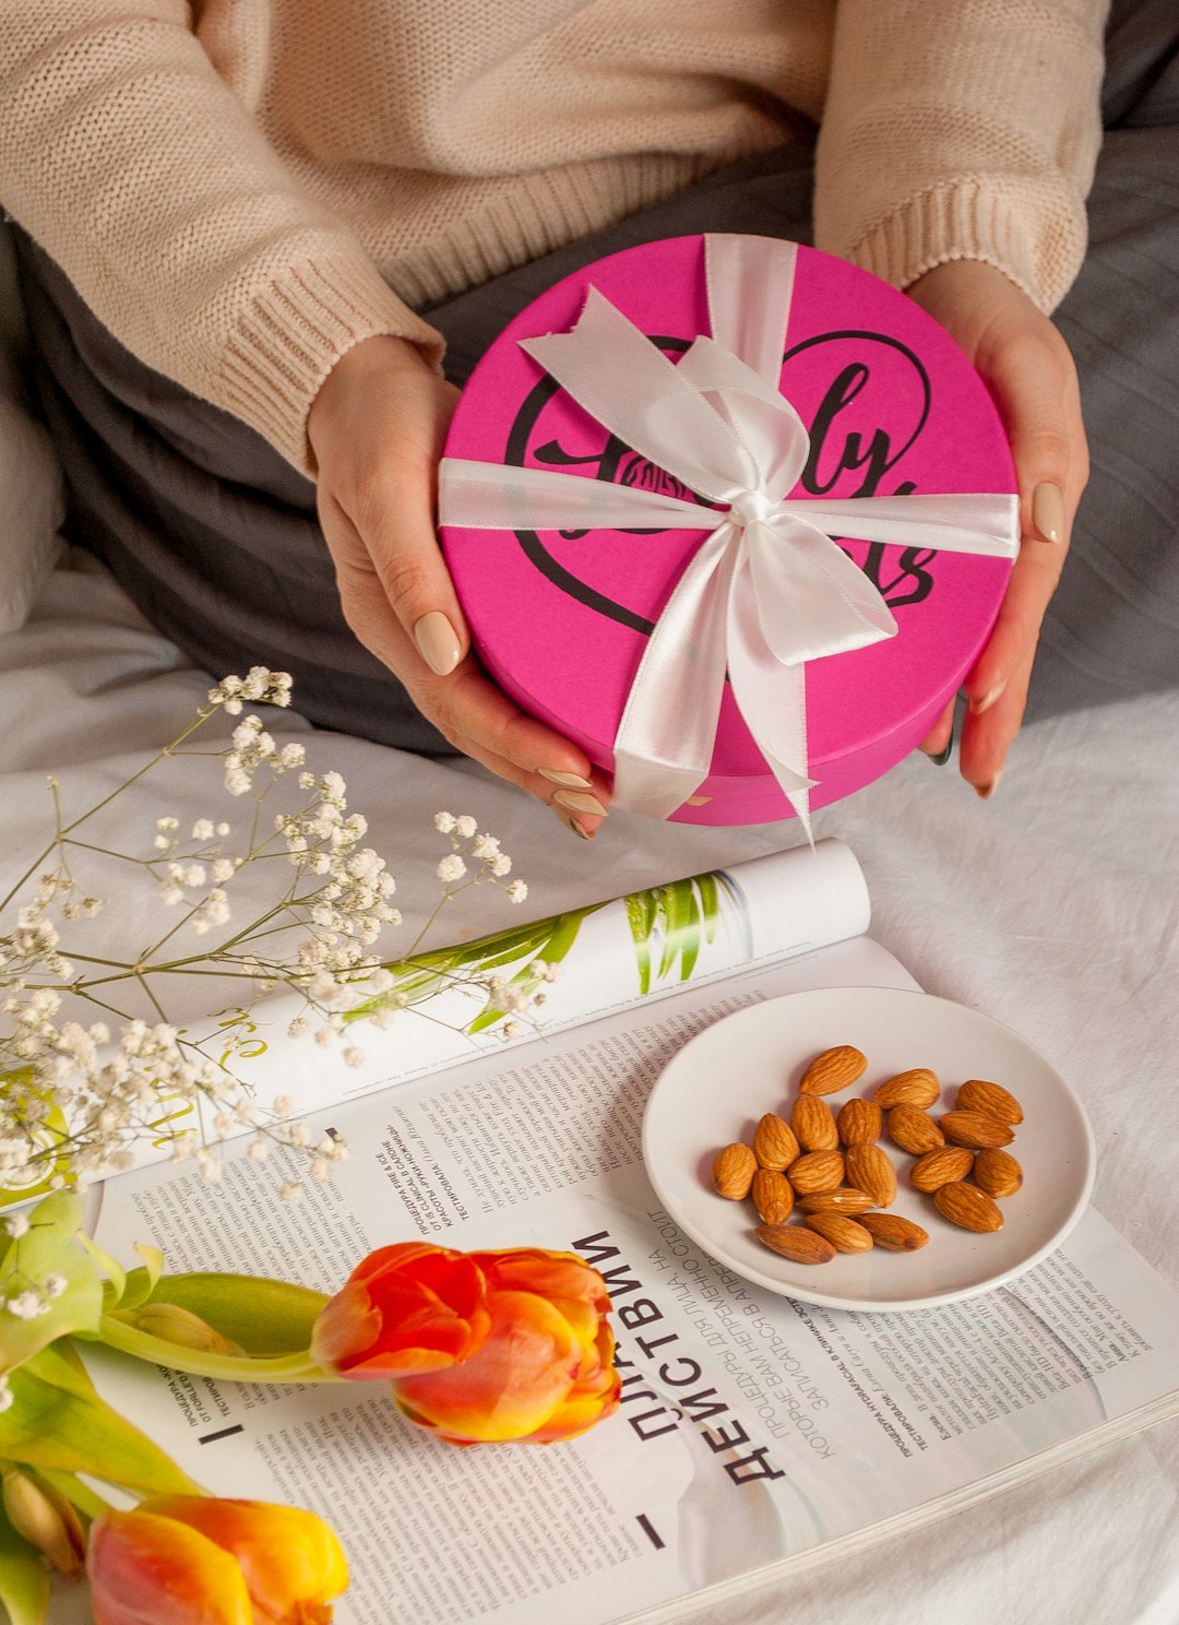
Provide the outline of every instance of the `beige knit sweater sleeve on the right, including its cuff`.
[[986,260],[1052,310],[1085,255],[1108,0],[838,0],[815,240],[896,288]]

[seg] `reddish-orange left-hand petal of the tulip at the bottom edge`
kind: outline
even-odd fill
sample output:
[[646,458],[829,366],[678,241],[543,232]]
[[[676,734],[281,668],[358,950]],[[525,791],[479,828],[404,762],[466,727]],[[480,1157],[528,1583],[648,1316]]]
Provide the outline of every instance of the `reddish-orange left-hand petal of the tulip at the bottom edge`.
[[237,1560],[171,1518],[106,1513],[86,1568],[96,1625],[253,1625]]

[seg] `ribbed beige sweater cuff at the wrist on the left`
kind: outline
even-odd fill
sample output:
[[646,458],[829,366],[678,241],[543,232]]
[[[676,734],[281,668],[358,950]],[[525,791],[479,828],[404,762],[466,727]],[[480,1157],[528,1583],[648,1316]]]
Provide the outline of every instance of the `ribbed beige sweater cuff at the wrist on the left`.
[[391,333],[437,366],[440,335],[387,288],[361,254],[287,266],[235,322],[216,401],[313,478],[307,414],[339,358],[364,338]]

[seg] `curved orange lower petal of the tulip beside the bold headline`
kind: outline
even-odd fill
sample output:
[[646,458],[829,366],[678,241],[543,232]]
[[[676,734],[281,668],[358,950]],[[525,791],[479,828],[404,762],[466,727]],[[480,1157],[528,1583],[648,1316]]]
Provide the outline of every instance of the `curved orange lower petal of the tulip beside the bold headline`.
[[451,1441],[534,1433],[564,1404],[581,1365],[565,1316],[544,1298],[497,1292],[487,1306],[492,1329],[469,1360],[393,1383],[398,1404]]

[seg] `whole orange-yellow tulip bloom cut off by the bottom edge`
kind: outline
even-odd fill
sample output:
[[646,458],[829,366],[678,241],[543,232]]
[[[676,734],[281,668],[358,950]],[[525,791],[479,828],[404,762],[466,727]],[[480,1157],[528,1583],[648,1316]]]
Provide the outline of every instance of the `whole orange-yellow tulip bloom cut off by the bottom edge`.
[[104,1513],[86,1568],[96,1625],[328,1625],[348,1586],[313,1513],[201,1495]]

